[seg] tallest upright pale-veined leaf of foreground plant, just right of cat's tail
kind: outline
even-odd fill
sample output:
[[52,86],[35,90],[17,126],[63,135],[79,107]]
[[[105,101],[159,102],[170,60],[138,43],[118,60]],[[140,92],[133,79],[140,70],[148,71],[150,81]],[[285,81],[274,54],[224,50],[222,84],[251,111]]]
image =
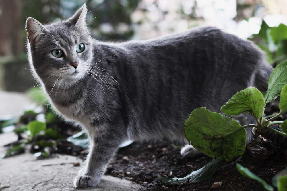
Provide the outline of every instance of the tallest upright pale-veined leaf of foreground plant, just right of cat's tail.
[[287,84],[287,61],[274,68],[268,81],[268,89],[263,93],[265,103],[275,100]]

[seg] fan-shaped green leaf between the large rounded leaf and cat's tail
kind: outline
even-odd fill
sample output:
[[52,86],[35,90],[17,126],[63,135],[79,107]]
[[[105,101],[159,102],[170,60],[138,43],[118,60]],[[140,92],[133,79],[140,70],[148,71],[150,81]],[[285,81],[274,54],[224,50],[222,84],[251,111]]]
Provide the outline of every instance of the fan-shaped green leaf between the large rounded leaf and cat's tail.
[[253,117],[259,119],[263,116],[265,102],[262,93],[254,88],[248,87],[237,92],[222,106],[221,111],[227,115],[240,115],[241,113],[251,113]]

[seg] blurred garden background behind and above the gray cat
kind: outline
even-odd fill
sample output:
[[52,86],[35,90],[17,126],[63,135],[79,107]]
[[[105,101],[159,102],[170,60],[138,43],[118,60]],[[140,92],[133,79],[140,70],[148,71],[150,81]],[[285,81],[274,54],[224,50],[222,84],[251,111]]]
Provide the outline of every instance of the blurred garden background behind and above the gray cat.
[[[99,40],[149,39],[216,26],[254,41],[273,66],[287,59],[287,0],[0,0],[0,115],[15,110],[20,115],[32,102],[23,93],[35,94],[31,88],[39,87],[26,56],[27,17],[43,24],[67,19],[83,3],[88,28]],[[18,107],[11,108],[16,101]]]

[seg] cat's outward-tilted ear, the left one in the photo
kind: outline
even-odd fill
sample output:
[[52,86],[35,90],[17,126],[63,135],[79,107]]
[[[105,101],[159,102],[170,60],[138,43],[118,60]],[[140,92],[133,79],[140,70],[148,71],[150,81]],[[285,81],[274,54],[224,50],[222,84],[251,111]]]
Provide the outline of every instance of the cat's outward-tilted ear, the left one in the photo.
[[44,28],[39,21],[29,17],[26,21],[26,31],[28,33],[28,39],[31,45],[35,45],[37,40],[47,34],[47,30]]

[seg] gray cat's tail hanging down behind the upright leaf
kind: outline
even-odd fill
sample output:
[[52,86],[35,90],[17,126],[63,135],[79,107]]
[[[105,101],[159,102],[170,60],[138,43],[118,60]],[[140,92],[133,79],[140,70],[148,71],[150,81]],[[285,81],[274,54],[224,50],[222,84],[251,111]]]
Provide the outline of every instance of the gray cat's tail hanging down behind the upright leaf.
[[260,60],[257,72],[255,74],[254,86],[262,93],[267,91],[268,80],[271,76],[273,69],[274,68],[270,64],[268,64],[265,58]]

